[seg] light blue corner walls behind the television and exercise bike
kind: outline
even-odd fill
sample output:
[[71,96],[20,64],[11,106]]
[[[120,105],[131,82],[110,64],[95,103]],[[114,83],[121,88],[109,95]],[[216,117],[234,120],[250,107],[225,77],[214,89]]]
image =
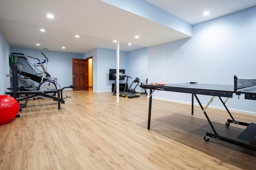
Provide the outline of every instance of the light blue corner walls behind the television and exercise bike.
[[[88,51],[82,55],[83,59],[92,57],[92,69],[93,69],[93,91],[94,92],[110,92],[112,90],[112,83],[114,80],[108,80],[109,69],[116,69],[116,50],[97,48]],[[135,51],[119,53],[119,68],[125,69],[126,74],[131,76],[128,78],[128,86],[132,84],[132,81],[138,77],[142,82],[146,82],[147,79],[147,48],[138,49]],[[120,80],[120,83],[124,83],[126,80]],[[138,86],[137,91],[141,91]]]

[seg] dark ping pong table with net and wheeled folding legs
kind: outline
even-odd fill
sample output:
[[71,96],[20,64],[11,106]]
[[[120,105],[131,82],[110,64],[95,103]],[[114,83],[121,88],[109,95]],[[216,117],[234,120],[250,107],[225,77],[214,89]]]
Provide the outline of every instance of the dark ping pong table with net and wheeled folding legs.
[[[218,139],[220,141],[228,142],[240,147],[244,147],[250,150],[256,151],[256,146],[251,143],[256,135],[256,124],[255,123],[245,123],[241,121],[236,121],[228,108],[226,107],[226,102],[229,98],[233,97],[233,94],[241,95],[244,94],[244,98],[248,100],[256,100],[256,79],[240,79],[234,76],[234,86],[232,85],[216,85],[216,84],[198,84],[196,82],[190,83],[178,83],[178,84],[165,84],[165,85],[157,85],[157,84],[142,84],[141,88],[150,90],[149,97],[149,109],[148,109],[148,129],[150,129],[150,119],[151,119],[151,107],[152,107],[152,94],[155,90],[169,91],[169,92],[181,92],[181,93],[189,93],[192,94],[192,115],[194,114],[194,97],[196,98],[199,106],[206,119],[208,120],[212,131],[214,133],[206,132],[206,136],[204,137],[204,141],[210,141],[210,137],[214,139]],[[208,95],[212,96],[208,104],[203,107],[197,95]],[[224,137],[219,135],[210,118],[206,113],[206,109],[213,101],[215,97],[218,97],[225,107],[226,111],[230,115],[231,119],[228,119],[226,122],[226,126],[230,126],[230,123],[239,124],[247,126],[244,131],[236,137],[236,139],[230,139],[228,137]],[[226,100],[223,101],[221,97],[225,97]],[[239,98],[239,96],[238,96]]]

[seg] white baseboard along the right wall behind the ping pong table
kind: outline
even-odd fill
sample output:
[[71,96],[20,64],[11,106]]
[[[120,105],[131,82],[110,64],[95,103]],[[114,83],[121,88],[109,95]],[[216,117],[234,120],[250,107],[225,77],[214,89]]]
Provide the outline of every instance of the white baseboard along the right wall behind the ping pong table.
[[[148,96],[148,98],[149,98],[149,96]],[[157,97],[152,97],[152,98],[153,98],[153,99],[156,99],[156,100],[167,101],[167,102],[174,102],[174,103],[179,103],[179,104],[191,105],[191,102],[183,102],[183,101],[179,101],[179,100],[170,100],[170,99],[157,98]],[[199,104],[194,103],[194,106],[199,106]],[[202,106],[206,106],[206,105],[202,105]],[[208,106],[208,108],[226,111],[225,107]],[[245,115],[253,115],[253,116],[256,116],[256,113],[255,113],[255,112],[251,112],[251,111],[244,111],[244,110],[237,110],[237,109],[229,109],[229,108],[228,108],[228,110],[229,110],[230,112],[234,112],[234,113],[241,113],[241,114],[245,114]]]

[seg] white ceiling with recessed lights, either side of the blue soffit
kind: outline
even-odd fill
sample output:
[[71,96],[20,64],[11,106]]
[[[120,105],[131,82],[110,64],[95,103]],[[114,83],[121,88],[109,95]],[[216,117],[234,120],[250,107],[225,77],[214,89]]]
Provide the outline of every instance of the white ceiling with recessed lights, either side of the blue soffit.
[[[256,6],[256,0],[146,1],[191,25]],[[209,16],[202,16],[205,10]],[[55,18],[46,18],[48,13]],[[0,0],[0,30],[13,47],[70,53],[116,49],[114,39],[121,51],[132,51],[189,37],[100,0]]]

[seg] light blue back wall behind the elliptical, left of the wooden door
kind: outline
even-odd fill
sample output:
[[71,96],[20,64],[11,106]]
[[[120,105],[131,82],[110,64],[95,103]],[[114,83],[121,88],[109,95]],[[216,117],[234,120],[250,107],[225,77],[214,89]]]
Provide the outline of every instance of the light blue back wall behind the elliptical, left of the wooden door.
[[[47,67],[49,74],[54,78],[58,78],[57,81],[60,84],[61,88],[72,85],[72,58],[82,59],[82,54],[34,50],[17,47],[11,47],[10,51],[10,53],[23,53],[25,56],[28,55],[30,57],[35,57],[38,58],[40,61],[43,61],[45,58],[41,54],[41,52],[44,53],[44,55],[49,60]],[[30,58],[28,59],[32,64],[38,62]]]

